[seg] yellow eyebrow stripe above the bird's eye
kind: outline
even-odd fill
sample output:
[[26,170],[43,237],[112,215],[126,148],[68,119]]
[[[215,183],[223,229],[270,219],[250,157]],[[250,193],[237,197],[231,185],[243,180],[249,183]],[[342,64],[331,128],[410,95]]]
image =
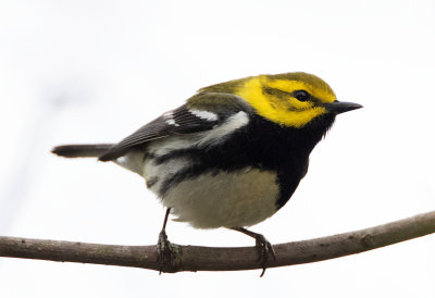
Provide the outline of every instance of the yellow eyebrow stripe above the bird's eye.
[[319,98],[320,100],[326,103],[331,103],[334,100],[336,100],[335,94],[330,88],[326,88],[322,85],[313,86],[300,80],[287,80],[287,79],[271,79],[265,84],[268,84],[268,86],[271,88],[279,89],[289,94],[296,90],[306,90],[315,98]]

